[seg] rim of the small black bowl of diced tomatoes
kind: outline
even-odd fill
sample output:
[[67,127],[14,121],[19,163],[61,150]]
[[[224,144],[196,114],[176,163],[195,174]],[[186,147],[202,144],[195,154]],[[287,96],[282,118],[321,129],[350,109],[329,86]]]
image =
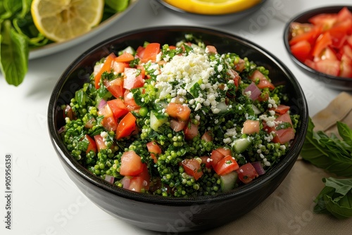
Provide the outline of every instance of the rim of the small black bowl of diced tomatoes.
[[[346,6],[346,5],[330,5],[330,6],[322,6],[319,8],[311,8],[308,9],[307,11],[303,11],[301,13],[298,13],[297,15],[294,15],[293,17],[291,17],[287,23],[284,26],[284,46],[285,49],[287,51],[287,53],[289,53],[289,56],[291,57],[291,60],[294,61],[294,63],[296,63],[296,65],[298,65],[299,67],[303,68],[304,70],[307,70],[308,72],[312,73],[312,75],[315,75],[315,77],[319,77],[319,80],[321,77],[325,77],[325,79],[328,80],[337,80],[339,82],[352,82],[352,78],[351,77],[336,77],[336,76],[332,76],[332,75],[328,75],[326,73],[323,72],[319,72],[318,70],[315,70],[313,68],[310,68],[308,65],[302,63],[301,61],[299,61],[292,53],[291,53],[291,49],[289,46],[289,29],[290,29],[290,25],[291,23],[294,23],[296,20],[298,20],[299,18],[302,18],[306,15],[315,13],[315,15],[318,15],[319,13],[325,13],[326,11],[332,11],[332,12],[337,12],[339,10],[341,10],[342,8],[347,7],[348,9],[350,9],[352,11],[352,5]],[[331,13],[332,13],[331,12]],[[330,13],[330,12],[329,12]]]

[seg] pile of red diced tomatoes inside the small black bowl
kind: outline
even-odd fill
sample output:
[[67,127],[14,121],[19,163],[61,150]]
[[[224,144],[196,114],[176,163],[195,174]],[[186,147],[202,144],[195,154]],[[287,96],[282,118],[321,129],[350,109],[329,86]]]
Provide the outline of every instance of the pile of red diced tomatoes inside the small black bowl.
[[[289,42],[292,53],[308,67],[319,72],[351,77],[350,63],[346,60],[346,56],[352,58],[352,12],[344,7],[339,13],[315,15],[308,21],[312,23],[311,30],[296,37],[293,35],[296,33],[294,25],[301,23],[292,23],[292,39]],[[308,44],[303,41],[309,42],[312,48],[310,56],[305,54],[308,51]],[[298,49],[294,47],[295,45],[298,45]],[[306,51],[299,49],[303,45],[306,46]],[[341,61],[343,57],[345,59]]]

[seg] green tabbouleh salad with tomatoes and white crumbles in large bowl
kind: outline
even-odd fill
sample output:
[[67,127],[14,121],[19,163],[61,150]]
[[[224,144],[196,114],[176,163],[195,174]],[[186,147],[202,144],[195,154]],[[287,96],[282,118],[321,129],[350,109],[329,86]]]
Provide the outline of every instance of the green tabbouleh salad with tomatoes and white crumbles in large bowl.
[[215,195],[288,151],[298,125],[269,71],[193,35],[101,58],[63,106],[60,133],[90,172],[132,191]]

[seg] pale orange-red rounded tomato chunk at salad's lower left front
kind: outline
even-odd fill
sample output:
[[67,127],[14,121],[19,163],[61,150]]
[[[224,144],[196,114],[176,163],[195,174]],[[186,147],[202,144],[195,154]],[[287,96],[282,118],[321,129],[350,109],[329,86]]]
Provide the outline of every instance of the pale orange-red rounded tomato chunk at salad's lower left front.
[[134,151],[122,153],[120,174],[128,176],[137,176],[142,173],[144,164],[141,157]]

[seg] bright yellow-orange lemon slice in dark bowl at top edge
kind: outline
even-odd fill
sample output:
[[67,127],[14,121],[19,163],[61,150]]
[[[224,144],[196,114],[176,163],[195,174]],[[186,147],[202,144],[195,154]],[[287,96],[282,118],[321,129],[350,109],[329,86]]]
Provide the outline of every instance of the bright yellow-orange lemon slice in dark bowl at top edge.
[[261,0],[164,0],[166,3],[191,13],[221,15],[244,11]]

